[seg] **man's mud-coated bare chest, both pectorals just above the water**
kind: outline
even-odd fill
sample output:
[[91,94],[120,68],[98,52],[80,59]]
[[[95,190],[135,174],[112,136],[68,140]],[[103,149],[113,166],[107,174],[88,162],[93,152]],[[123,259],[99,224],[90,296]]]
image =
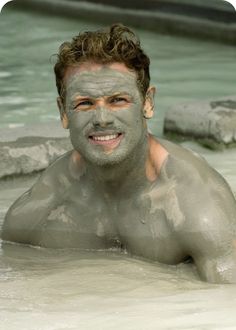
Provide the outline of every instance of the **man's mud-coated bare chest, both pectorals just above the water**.
[[144,258],[179,262],[182,250],[170,223],[171,211],[166,211],[165,194],[154,190],[109,200],[76,191],[50,210],[45,233],[62,247],[124,247]]

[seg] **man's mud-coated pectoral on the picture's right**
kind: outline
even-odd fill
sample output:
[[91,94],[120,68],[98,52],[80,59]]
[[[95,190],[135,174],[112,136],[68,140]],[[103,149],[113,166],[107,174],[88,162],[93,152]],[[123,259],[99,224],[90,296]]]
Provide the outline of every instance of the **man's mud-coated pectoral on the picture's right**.
[[164,263],[183,259],[175,228],[161,198],[153,201],[139,196],[123,201],[117,216],[122,242],[132,254]]

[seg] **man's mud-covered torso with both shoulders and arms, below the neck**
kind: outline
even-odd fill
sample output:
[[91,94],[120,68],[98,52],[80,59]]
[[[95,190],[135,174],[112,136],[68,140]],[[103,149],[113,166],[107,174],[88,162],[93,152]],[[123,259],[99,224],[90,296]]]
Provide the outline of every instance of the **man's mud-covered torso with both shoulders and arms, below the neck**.
[[229,186],[199,156],[159,142],[169,152],[160,175],[132,196],[98,193],[81,164],[72,170],[73,153],[66,154],[10,208],[3,238],[56,248],[124,247],[168,264],[191,256],[203,279],[235,282],[236,203]]

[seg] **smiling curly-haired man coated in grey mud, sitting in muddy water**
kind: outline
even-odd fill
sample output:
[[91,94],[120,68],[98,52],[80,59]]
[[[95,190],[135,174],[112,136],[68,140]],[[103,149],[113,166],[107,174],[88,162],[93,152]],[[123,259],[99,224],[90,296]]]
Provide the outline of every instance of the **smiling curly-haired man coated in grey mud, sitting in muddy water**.
[[55,75],[74,149],[11,206],[3,239],[192,258],[202,279],[236,282],[234,196],[201,157],[148,133],[155,88],[133,32],[80,34],[61,45]]

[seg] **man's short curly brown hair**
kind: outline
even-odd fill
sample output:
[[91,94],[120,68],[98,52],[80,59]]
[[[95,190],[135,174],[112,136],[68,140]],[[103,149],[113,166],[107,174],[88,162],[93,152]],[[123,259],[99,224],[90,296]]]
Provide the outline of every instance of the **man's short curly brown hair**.
[[128,27],[113,24],[109,29],[82,32],[64,42],[54,66],[58,94],[63,98],[63,78],[68,67],[91,61],[98,64],[124,63],[136,72],[137,86],[145,97],[150,83],[150,59],[140,47],[138,37]]

